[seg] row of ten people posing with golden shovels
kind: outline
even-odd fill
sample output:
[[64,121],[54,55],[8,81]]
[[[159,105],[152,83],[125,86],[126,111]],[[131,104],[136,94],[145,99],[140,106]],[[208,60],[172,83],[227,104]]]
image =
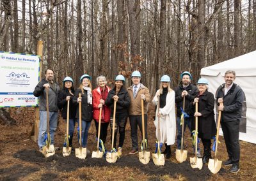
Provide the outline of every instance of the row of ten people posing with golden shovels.
[[[216,106],[221,110],[221,128],[223,130],[225,143],[227,147],[229,159],[225,161],[225,165],[231,165],[231,172],[239,171],[239,121],[241,120],[243,91],[234,83],[236,73],[227,71],[225,73],[225,83],[216,91]],[[171,147],[175,143],[177,128],[177,148],[181,147],[182,126],[180,120],[184,116],[184,131],[188,126],[191,136],[195,132],[195,117],[198,117],[198,137],[204,145],[203,163],[207,163],[211,158],[212,138],[216,136],[216,122],[214,120],[214,95],[208,91],[209,82],[205,78],[200,78],[195,85],[191,84],[192,76],[188,71],[184,71],[180,75],[180,84],[174,90],[170,86],[171,78],[168,75],[161,77],[159,90],[152,99],[152,103],[157,105],[156,117],[154,124],[156,125],[157,140],[165,144],[163,154],[166,159],[171,156]],[[148,105],[151,101],[150,92],[141,81],[141,73],[139,71],[132,72],[132,85],[125,89],[125,77],[117,75],[115,78],[115,87],[110,89],[107,86],[105,76],[97,77],[97,88],[92,90],[91,76],[84,74],[80,78],[81,84],[79,88],[74,89],[72,78],[66,77],[63,80],[63,89],[54,82],[54,71],[47,69],[45,78],[42,79],[35,87],[34,96],[39,97],[40,105],[40,126],[38,133],[38,146],[40,151],[45,145],[45,134],[47,133],[46,122],[46,101],[45,95],[48,90],[49,95],[49,120],[51,144],[54,144],[54,133],[57,128],[58,110],[61,110],[63,119],[67,119],[67,101],[70,101],[69,108],[69,130],[70,136],[69,146],[72,147],[72,138],[74,129],[79,119],[78,103],[82,105],[82,147],[87,146],[88,131],[92,120],[95,122],[96,137],[99,131],[99,116],[101,112],[100,124],[100,140],[106,143],[108,135],[109,122],[111,125],[111,133],[115,131],[114,148],[117,148],[118,155],[122,155],[122,147],[125,140],[125,126],[127,118],[131,126],[132,150],[129,154],[138,152],[138,127],[142,134],[142,110],[141,100],[144,107],[144,126],[145,139],[147,140],[147,112]],[[81,97],[79,97],[81,94]],[[116,121],[113,126],[114,103],[116,103]],[[195,105],[198,104],[198,112],[195,111]],[[176,107],[176,108],[175,108]],[[160,127],[157,122],[160,121]],[[113,130],[114,127],[114,130]],[[158,134],[158,130],[160,134]],[[116,134],[119,132],[119,143],[116,147]],[[111,134],[112,135],[112,134]],[[111,138],[112,139],[112,138]],[[186,145],[184,145],[186,148]],[[194,150],[198,157],[201,156],[200,148]]]

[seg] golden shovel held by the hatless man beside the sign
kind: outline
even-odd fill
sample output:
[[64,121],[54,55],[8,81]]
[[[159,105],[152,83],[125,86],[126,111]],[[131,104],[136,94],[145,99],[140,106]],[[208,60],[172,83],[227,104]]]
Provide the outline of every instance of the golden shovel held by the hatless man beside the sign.
[[42,147],[42,152],[45,157],[49,157],[55,154],[55,150],[54,150],[54,145],[51,145],[48,88],[46,88],[45,91],[46,91],[46,114],[47,114],[47,139],[45,141],[46,145]]

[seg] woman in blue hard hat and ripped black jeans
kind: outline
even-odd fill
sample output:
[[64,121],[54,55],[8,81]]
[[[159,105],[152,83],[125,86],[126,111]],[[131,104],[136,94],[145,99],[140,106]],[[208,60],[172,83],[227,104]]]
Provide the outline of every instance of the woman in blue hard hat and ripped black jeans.
[[[114,113],[114,103],[116,102],[116,121],[115,121],[115,134],[114,134],[114,145],[116,148],[116,135],[119,131],[119,143],[118,143],[118,156],[122,155],[122,147],[124,145],[125,139],[125,126],[127,123],[128,109],[131,103],[129,94],[125,89],[125,77],[123,75],[118,75],[115,78],[115,87],[109,91],[108,98],[106,99],[106,105],[111,109],[111,137],[113,131],[113,113]],[[111,138],[112,140],[112,138]]]

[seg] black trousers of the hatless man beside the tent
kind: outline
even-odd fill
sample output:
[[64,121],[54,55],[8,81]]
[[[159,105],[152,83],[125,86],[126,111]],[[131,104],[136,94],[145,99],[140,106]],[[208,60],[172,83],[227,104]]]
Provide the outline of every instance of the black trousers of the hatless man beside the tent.
[[228,122],[221,121],[221,129],[223,131],[228,157],[232,163],[237,164],[240,159],[239,122],[239,119]]

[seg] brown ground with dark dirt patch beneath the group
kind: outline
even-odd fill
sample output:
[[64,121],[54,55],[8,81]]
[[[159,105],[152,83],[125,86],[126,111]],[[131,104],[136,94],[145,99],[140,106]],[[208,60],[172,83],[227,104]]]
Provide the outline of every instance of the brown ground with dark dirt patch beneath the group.
[[[152,159],[148,164],[140,163],[138,154],[129,155],[131,150],[131,129],[127,122],[125,143],[122,156],[116,163],[108,163],[102,159],[92,158],[87,154],[86,159],[78,159],[73,152],[68,157],[62,156],[62,145],[65,139],[65,122],[59,119],[55,146],[61,149],[56,154],[45,158],[37,144],[31,140],[30,132],[33,126],[33,108],[11,108],[12,116],[17,120],[17,126],[0,125],[0,180],[255,180],[256,179],[256,145],[240,141],[241,162],[239,173],[229,173],[230,166],[222,166],[213,175],[207,164],[202,170],[193,169],[189,157],[193,157],[193,148],[189,132],[186,131],[185,143],[188,145],[188,158],[184,163],[177,163],[172,145],[172,157],[166,159],[164,166],[156,166]],[[154,152],[156,141],[153,124],[154,108],[150,107],[148,115],[148,145],[150,154]],[[77,133],[76,133],[77,134]],[[74,136],[74,147],[78,148],[77,136]],[[106,147],[111,147],[110,129]],[[220,136],[218,158],[227,159],[227,151],[223,136]],[[95,141],[95,126],[92,123],[89,131],[88,149],[97,150]],[[200,143],[202,148],[202,143]],[[212,153],[213,156],[213,153]],[[151,156],[152,157],[152,156]]]

